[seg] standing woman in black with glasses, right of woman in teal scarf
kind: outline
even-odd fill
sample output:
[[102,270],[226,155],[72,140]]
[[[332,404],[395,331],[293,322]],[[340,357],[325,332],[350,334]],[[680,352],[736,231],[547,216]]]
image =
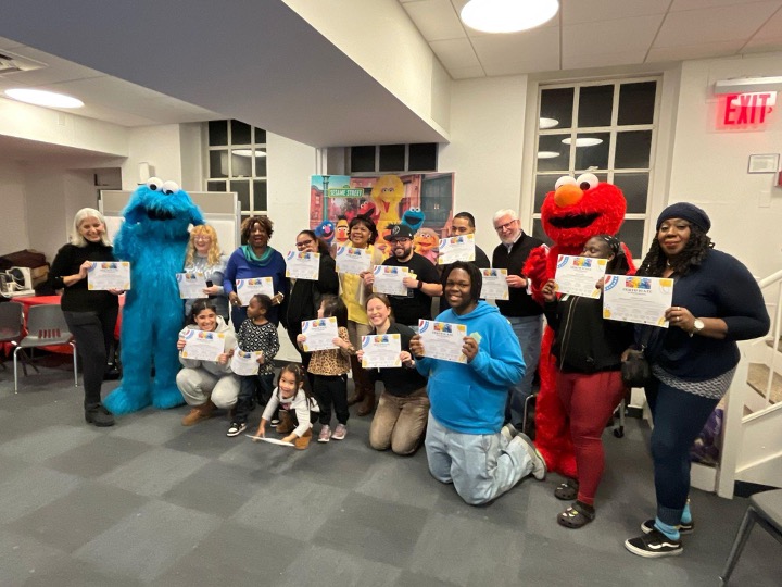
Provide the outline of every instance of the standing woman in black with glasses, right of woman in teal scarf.
[[[326,294],[339,294],[339,279],[337,265],[329,254],[329,246],[320,240],[312,230],[302,230],[297,235],[297,250],[299,252],[320,253],[320,271],[317,280],[288,279],[289,297],[286,311],[282,313],[282,326],[288,330],[293,347],[299,350],[304,365],[304,373],[310,374],[310,353],[304,352],[297,345],[297,336],[301,334],[303,320],[315,320],[320,307],[320,298]],[[312,382],[311,382],[312,383]]]

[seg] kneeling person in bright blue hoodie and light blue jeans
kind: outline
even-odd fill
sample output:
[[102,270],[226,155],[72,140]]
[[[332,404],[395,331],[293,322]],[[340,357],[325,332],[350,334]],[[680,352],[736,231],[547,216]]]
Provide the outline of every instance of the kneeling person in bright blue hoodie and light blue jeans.
[[464,324],[467,362],[426,357],[419,335],[411,340],[418,372],[429,377],[431,408],[426,451],[429,471],[453,483],[467,503],[478,505],[501,496],[530,473],[545,477],[545,462],[530,439],[503,427],[508,388],[525,374],[521,349],[507,320],[480,301],[482,278],[471,263],[456,262],[442,278],[450,310],[437,320]]

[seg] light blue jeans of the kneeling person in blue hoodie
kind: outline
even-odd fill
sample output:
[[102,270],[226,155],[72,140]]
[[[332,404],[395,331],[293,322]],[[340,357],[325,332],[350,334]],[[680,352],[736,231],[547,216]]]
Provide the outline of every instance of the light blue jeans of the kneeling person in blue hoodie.
[[442,483],[453,483],[459,497],[470,505],[503,495],[533,469],[518,439],[508,442],[500,433],[457,433],[440,424],[431,413],[425,446],[432,476]]

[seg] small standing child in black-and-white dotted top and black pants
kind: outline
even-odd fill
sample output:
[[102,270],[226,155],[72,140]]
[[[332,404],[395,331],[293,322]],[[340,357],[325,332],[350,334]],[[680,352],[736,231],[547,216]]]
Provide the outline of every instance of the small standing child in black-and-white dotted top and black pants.
[[[258,369],[254,375],[241,376],[241,387],[234,412],[234,422],[226,436],[238,436],[247,429],[247,419],[257,402],[268,403],[274,390],[274,358],[279,351],[277,327],[266,317],[272,309],[272,298],[256,294],[248,304],[248,317],[239,326],[237,344],[244,352],[261,352],[257,358]],[[285,422],[280,423],[282,425]]]

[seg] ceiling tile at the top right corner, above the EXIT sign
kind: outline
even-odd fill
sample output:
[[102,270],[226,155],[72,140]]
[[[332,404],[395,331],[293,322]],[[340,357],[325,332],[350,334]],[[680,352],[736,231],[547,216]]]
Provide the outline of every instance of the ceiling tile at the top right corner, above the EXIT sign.
[[673,12],[666,16],[654,47],[689,47],[747,40],[779,8],[779,1]]

